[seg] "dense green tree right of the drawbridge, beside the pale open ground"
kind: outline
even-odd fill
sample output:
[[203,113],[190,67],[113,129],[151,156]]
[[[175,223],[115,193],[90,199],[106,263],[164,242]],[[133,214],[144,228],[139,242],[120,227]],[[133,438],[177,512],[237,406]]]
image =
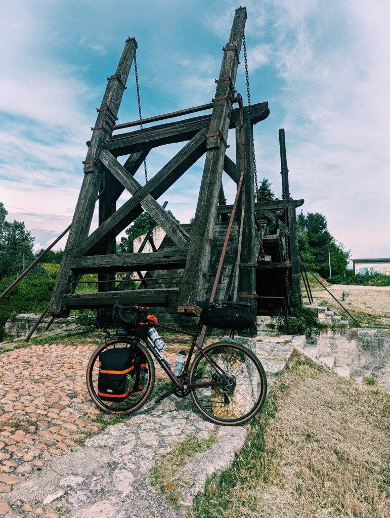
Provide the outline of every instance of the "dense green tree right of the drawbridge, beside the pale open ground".
[[328,250],[333,275],[342,274],[350,258],[342,243],[328,231],[326,218],[319,212],[300,212],[297,216],[298,246],[302,260],[323,277],[329,277]]

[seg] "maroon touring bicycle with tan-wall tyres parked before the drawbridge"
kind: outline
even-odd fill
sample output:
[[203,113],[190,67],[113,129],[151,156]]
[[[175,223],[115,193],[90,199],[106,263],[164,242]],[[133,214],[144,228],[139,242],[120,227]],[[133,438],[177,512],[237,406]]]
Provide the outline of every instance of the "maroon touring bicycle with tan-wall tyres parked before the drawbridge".
[[[218,306],[218,303],[206,304],[207,307]],[[247,303],[234,304],[235,307],[237,304],[248,306]],[[242,425],[261,410],[267,395],[267,378],[261,362],[251,350],[234,340],[219,341],[203,347],[197,342],[201,323],[196,332],[190,332],[158,324],[155,317],[149,322],[148,308],[132,304],[121,305],[118,302],[115,302],[114,308],[121,315],[123,327],[117,328],[114,334],[106,335],[105,341],[92,354],[86,369],[88,392],[100,410],[114,414],[131,414],[145,405],[155,382],[152,356],[172,383],[171,390],[158,396],[156,403],[172,394],[180,398],[191,394],[196,408],[211,422],[220,425]],[[144,324],[143,328],[139,325],[134,329],[126,328],[126,314],[136,314],[142,321],[140,323]],[[145,333],[145,324],[192,337],[182,373],[178,377],[172,372],[153,340]],[[105,400],[99,395],[97,387],[99,356],[112,348],[129,349],[134,358],[133,388],[128,387],[129,393],[120,401]]]

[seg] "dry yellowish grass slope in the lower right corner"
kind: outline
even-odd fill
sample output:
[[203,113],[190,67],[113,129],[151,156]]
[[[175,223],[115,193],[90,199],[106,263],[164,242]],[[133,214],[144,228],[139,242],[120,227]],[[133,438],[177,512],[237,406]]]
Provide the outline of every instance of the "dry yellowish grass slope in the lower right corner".
[[192,517],[388,517],[389,395],[299,357],[274,387],[250,440],[209,481]]

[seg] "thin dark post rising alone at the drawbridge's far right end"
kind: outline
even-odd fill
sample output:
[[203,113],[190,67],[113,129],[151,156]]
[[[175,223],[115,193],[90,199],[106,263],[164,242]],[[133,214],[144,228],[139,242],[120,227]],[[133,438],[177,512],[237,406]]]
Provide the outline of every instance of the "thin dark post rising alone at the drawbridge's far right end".
[[288,168],[287,168],[287,154],[286,154],[286,140],[284,135],[284,129],[279,130],[279,147],[280,147],[280,165],[282,175],[282,197],[284,200],[290,200],[290,204],[287,209],[287,223],[288,223],[288,236],[285,235],[285,239],[290,244],[290,257],[286,257],[288,260],[291,258],[291,281],[292,281],[292,295],[300,304],[302,303],[302,292],[300,286],[300,266],[299,266],[299,252],[298,252],[298,237],[297,237],[297,221],[296,211],[293,200],[290,196],[290,186],[288,185]]

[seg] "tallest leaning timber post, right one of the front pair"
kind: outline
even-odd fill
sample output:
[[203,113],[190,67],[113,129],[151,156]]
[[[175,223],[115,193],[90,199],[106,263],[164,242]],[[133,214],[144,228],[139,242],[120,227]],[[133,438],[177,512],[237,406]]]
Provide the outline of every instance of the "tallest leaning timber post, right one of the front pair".
[[216,211],[224,167],[226,141],[232,113],[232,89],[236,82],[239,55],[244,33],[247,10],[236,9],[229,41],[224,47],[220,77],[217,81],[214,106],[207,133],[207,154],[199,198],[195,212],[195,223],[184,271],[179,297],[180,312],[193,305],[196,298],[205,294],[205,280],[210,263],[211,241],[214,234]]

